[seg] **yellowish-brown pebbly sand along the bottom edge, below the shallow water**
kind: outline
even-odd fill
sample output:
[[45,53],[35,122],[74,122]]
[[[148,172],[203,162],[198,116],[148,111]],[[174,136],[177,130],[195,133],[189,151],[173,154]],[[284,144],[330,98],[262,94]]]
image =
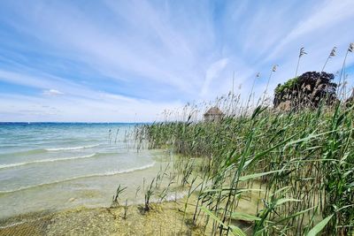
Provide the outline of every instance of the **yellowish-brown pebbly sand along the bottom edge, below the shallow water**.
[[185,223],[193,217],[193,206],[189,205],[185,221],[181,201],[152,207],[144,212],[141,205],[128,206],[126,217],[124,207],[118,207],[69,209],[42,217],[13,218],[0,229],[0,235],[203,235],[204,227]]

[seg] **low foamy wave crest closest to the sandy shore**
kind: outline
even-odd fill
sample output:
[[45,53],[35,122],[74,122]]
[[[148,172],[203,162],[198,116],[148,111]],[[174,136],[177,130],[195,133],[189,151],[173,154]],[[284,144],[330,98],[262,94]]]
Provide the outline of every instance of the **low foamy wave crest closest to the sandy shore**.
[[143,165],[143,166],[140,166],[140,167],[135,167],[135,168],[127,169],[127,170],[122,170],[122,171],[107,171],[107,172],[104,172],[104,173],[82,175],[82,176],[77,176],[77,177],[73,177],[73,178],[69,178],[69,179],[60,179],[60,180],[57,180],[57,181],[53,181],[53,182],[49,182],[49,183],[42,183],[42,184],[34,185],[34,186],[19,187],[17,189],[12,189],[12,190],[4,190],[4,191],[0,191],[0,194],[11,194],[11,193],[14,193],[14,192],[23,191],[23,190],[27,190],[27,189],[30,189],[30,188],[50,186],[50,185],[55,185],[55,184],[59,184],[59,183],[63,183],[63,182],[76,180],[76,179],[85,179],[85,178],[91,178],[91,177],[104,177],[104,176],[112,176],[112,175],[129,173],[129,172],[134,172],[134,171],[142,171],[142,170],[148,169],[148,168],[150,168],[150,167],[152,167],[154,165],[155,165],[155,162],[153,162],[151,164],[146,164],[146,165]]

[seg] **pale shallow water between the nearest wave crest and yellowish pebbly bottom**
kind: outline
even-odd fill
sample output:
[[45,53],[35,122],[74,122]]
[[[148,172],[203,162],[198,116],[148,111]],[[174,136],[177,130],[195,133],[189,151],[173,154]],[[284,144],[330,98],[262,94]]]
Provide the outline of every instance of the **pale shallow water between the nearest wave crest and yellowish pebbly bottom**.
[[[171,162],[165,150],[152,150],[150,155],[153,156],[151,160],[153,164],[148,168],[138,167],[135,171],[119,171],[115,175],[59,181],[55,184],[2,193],[0,194],[0,202],[2,202],[0,226],[3,225],[1,222],[4,220],[27,214],[51,213],[82,206],[109,207],[112,203],[112,195],[119,184],[128,187],[121,197],[124,197],[124,200],[127,198],[129,204],[143,202],[143,181],[147,184],[150,179],[156,177],[161,168]],[[141,187],[141,190],[135,194],[137,187]]]

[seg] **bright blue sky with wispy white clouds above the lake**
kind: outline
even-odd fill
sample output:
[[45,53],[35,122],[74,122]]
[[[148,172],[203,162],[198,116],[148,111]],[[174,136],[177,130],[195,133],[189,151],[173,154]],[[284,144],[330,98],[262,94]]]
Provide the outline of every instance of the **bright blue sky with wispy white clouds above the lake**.
[[[232,89],[338,72],[354,1],[0,1],[0,121],[145,122]],[[354,53],[346,60],[354,80]]]

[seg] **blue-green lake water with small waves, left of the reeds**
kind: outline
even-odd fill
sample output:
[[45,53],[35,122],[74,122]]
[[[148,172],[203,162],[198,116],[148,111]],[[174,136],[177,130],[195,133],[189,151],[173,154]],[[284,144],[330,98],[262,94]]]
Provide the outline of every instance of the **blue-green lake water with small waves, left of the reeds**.
[[111,203],[115,188],[156,173],[161,153],[137,152],[135,125],[0,124],[0,218]]

